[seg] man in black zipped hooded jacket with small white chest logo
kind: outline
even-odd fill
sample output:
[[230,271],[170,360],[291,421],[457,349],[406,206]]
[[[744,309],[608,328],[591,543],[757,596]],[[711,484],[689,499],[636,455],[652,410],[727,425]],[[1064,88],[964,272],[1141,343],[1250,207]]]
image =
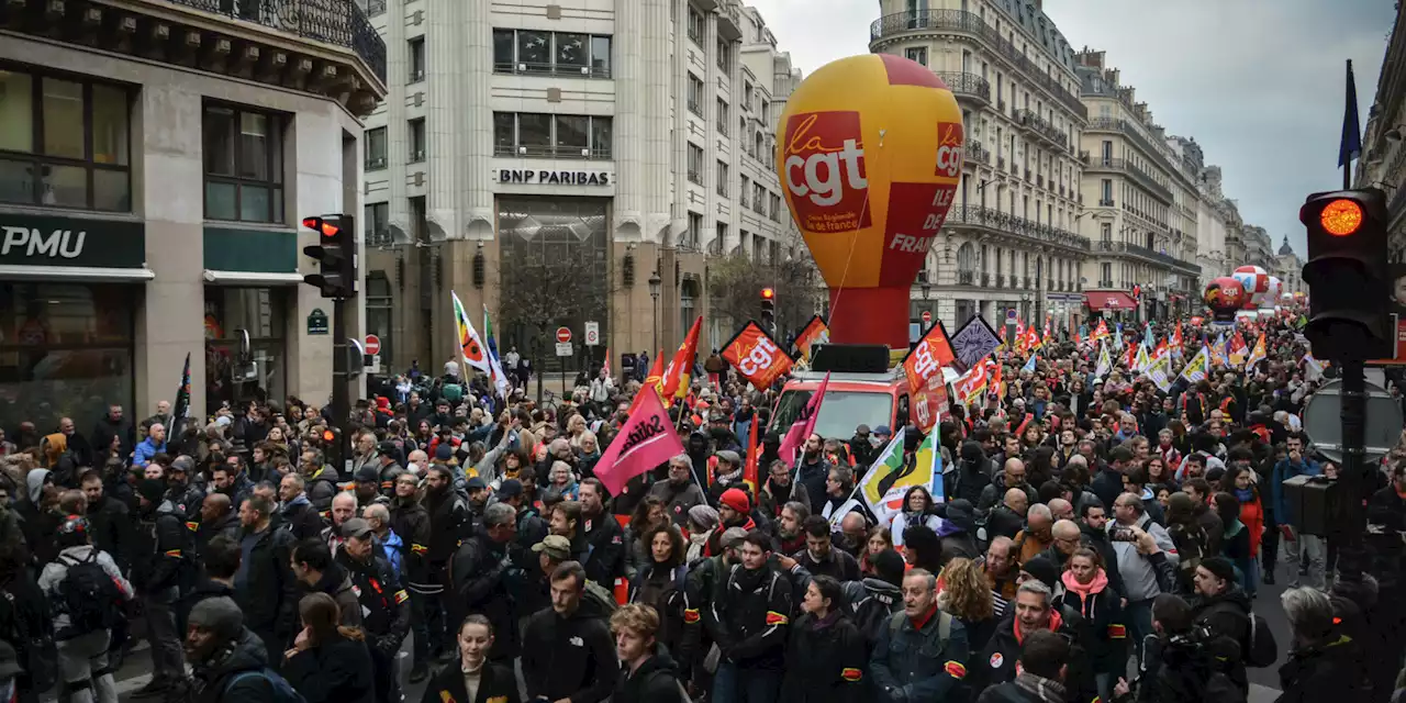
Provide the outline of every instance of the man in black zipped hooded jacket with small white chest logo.
[[599,703],[620,678],[616,647],[605,623],[579,613],[586,571],[568,561],[551,574],[551,609],[523,628],[523,679],[527,697]]

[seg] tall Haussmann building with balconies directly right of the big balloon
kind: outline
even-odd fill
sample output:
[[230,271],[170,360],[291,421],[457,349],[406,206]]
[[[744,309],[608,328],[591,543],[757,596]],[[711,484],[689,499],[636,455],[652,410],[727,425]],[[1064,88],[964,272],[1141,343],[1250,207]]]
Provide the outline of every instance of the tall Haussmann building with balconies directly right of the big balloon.
[[1074,51],[1040,3],[883,0],[869,48],[929,66],[957,98],[966,131],[962,184],[914,283],[911,316],[948,329],[981,314],[1084,318],[1077,233],[1087,124]]

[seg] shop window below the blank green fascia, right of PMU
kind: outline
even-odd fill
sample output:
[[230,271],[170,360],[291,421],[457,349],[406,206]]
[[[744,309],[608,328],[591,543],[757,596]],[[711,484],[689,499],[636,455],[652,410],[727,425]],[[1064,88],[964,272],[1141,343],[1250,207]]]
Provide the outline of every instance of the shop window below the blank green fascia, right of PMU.
[[[283,288],[205,288],[207,412],[221,404],[287,398],[284,337],[290,299]],[[242,349],[242,332],[249,335],[247,349]],[[253,378],[239,374],[246,364],[253,366]]]

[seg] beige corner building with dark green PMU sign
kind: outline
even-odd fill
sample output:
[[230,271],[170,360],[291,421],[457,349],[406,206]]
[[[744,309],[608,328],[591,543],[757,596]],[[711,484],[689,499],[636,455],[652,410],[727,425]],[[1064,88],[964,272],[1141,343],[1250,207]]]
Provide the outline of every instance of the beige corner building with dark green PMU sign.
[[187,359],[195,416],[326,402],[298,222],[360,212],[384,79],[350,0],[0,4],[0,422],[146,416]]

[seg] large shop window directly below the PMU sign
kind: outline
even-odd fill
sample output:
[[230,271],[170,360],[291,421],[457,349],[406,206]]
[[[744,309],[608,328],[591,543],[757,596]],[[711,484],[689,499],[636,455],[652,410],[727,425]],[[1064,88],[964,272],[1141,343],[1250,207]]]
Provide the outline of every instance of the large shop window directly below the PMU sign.
[[[132,408],[135,285],[0,284],[0,426],[87,432],[108,404]],[[172,373],[179,382],[180,370]],[[174,385],[172,387],[174,388]]]

